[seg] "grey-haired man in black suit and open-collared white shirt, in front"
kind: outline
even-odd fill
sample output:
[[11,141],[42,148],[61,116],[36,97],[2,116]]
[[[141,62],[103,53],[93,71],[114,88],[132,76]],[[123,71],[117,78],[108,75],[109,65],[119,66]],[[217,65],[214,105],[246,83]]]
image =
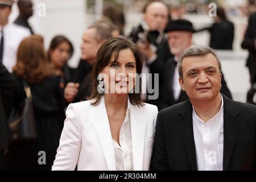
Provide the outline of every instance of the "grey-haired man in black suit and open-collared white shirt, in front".
[[256,106],[220,93],[216,53],[192,46],[180,56],[178,69],[189,100],[159,112],[151,169],[256,169]]

